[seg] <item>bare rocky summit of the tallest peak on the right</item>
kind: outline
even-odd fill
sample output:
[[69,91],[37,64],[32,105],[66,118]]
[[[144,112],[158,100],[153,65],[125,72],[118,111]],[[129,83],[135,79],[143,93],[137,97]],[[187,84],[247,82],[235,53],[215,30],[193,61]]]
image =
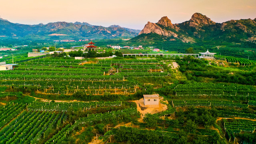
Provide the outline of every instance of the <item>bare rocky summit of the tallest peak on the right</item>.
[[204,25],[216,24],[210,18],[200,13],[194,13],[189,21],[190,21],[189,26],[194,28],[199,28]]

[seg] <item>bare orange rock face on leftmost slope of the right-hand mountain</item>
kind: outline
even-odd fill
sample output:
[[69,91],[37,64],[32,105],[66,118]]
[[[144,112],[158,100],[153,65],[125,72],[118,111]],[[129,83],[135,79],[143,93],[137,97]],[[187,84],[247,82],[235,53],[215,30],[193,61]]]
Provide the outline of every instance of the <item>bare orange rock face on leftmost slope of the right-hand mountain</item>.
[[172,31],[168,31],[168,30],[164,30],[162,28],[160,28],[160,26],[158,26],[157,24],[154,24],[152,22],[148,22],[142,31],[140,31],[140,34],[149,34],[149,33],[156,33],[156,34],[160,34],[163,36],[174,36],[175,38],[178,37],[178,35]]

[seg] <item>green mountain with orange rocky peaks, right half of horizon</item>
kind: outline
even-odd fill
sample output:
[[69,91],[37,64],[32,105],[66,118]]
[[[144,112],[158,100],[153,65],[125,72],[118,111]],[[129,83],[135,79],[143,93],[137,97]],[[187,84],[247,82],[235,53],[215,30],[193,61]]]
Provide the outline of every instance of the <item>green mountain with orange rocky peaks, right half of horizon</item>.
[[219,42],[254,42],[256,43],[256,18],[229,20],[223,23],[212,21],[205,15],[195,13],[191,19],[180,24],[172,24],[171,20],[164,16],[157,23],[148,22],[139,36],[133,40],[147,40],[150,35],[158,34],[164,40],[180,40],[185,43],[199,41]]

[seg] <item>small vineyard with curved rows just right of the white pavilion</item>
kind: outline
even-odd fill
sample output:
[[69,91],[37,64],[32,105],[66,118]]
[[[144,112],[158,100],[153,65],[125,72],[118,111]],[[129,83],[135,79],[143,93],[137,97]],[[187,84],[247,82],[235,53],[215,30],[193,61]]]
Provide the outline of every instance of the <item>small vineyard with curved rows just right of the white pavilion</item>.
[[236,58],[233,56],[214,55],[214,58],[216,60],[225,60],[227,62],[239,63],[241,66],[250,66],[252,64],[250,60],[246,60],[245,58]]

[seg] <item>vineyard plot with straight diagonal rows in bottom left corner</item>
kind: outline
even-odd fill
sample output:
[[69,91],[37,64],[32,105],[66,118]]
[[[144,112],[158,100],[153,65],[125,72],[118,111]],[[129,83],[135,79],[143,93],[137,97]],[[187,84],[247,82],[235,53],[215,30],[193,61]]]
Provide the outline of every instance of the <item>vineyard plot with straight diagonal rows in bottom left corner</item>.
[[65,114],[50,112],[22,112],[0,131],[1,144],[37,144],[48,135],[55,124],[62,123]]

